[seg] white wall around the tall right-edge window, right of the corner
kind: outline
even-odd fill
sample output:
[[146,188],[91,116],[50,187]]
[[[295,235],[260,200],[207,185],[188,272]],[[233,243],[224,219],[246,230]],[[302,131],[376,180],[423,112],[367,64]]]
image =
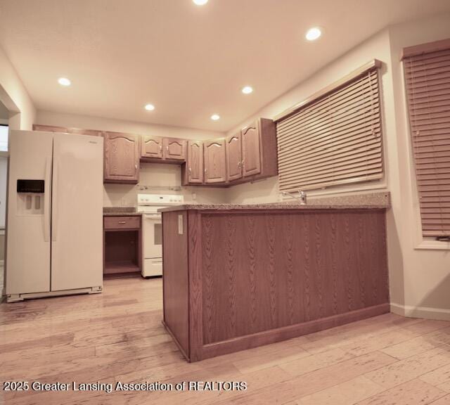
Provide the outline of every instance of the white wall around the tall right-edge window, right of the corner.
[[396,216],[401,224],[399,233],[404,262],[404,306],[402,302],[392,302],[397,304],[394,309],[400,313],[444,319],[450,319],[450,243],[427,240],[421,236],[403,67],[399,59],[401,50],[406,46],[448,38],[450,14],[390,27],[394,113],[399,142],[397,164],[401,178],[397,191],[401,210]]

